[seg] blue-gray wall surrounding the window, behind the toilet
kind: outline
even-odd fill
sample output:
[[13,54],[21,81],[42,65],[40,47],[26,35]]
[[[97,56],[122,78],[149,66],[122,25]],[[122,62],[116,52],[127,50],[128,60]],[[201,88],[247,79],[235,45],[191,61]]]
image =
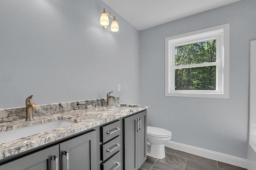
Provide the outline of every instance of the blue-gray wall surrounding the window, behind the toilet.
[[[172,141],[246,158],[249,41],[256,38],[256,1],[242,0],[140,31],[140,103],[148,125]],[[230,23],[229,99],[164,96],[164,38]]]

